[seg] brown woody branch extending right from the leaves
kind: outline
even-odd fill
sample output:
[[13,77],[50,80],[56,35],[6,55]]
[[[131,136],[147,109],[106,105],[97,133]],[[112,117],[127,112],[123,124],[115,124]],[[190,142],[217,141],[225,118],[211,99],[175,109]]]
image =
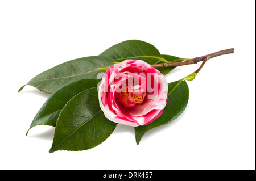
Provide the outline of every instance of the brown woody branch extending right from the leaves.
[[209,57],[209,59],[210,59],[210,58],[213,58],[213,57],[217,57],[217,56],[221,56],[223,54],[229,54],[229,53],[234,53],[234,48],[230,48],[230,49],[226,49],[226,50],[221,50],[221,51],[215,52],[215,53],[210,53],[210,54],[207,54],[205,56],[196,57],[196,58],[193,58],[193,59],[188,60],[188,61],[171,62],[171,63],[163,63],[163,64],[154,64],[154,65],[152,65],[152,67],[154,67],[154,68],[162,68],[162,67],[170,67],[170,66],[173,67],[173,66],[197,64],[197,62],[203,61],[207,57]]

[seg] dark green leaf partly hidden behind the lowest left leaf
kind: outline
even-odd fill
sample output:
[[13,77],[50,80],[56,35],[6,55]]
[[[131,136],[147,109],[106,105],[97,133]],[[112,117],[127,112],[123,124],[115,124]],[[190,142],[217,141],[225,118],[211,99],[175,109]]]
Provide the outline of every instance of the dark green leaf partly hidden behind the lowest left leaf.
[[100,82],[100,80],[82,79],[72,82],[55,91],[51,96],[49,96],[46,103],[44,103],[43,107],[36,114],[28,131],[36,125],[50,125],[55,127],[60,111],[63,109],[65,104],[67,104],[73,96],[79,94],[81,91],[97,87],[98,82]]

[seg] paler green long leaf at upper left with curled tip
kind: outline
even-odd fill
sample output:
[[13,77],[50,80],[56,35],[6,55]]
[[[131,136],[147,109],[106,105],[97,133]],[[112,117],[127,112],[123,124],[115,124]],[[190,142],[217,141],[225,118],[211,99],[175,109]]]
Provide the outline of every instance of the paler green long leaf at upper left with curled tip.
[[[51,69],[44,71],[32,78],[27,85],[34,86],[40,91],[52,94],[71,82],[80,79],[97,79],[98,73],[102,71],[96,70],[114,64],[114,60],[110,57],[92,56],[78,58],[57,65]],[[26,85],[25,85],[26,86]],[[23,89],[22,86],[19,91]],[[18,91],[18,92],[19,92]]]

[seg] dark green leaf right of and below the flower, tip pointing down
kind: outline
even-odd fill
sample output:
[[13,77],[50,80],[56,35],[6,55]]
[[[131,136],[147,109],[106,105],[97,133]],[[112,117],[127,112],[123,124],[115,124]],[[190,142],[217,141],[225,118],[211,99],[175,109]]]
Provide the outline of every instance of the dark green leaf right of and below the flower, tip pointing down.
[[134,128],[137,145],[147,131],[176,119],[185,110],[188,104],[188,96],[188,85],[184,79],[168,83],[168,100],[162,115],[148,125]]

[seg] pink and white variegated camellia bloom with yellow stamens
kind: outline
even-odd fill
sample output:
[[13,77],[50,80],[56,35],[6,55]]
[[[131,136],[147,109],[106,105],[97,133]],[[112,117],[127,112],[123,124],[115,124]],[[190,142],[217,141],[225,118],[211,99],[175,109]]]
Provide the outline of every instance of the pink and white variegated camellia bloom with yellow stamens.
[[137,127],[162,115],[167,94],[162,73],[142,60],[125,60],[106,70],[98,96],[109,120]]

